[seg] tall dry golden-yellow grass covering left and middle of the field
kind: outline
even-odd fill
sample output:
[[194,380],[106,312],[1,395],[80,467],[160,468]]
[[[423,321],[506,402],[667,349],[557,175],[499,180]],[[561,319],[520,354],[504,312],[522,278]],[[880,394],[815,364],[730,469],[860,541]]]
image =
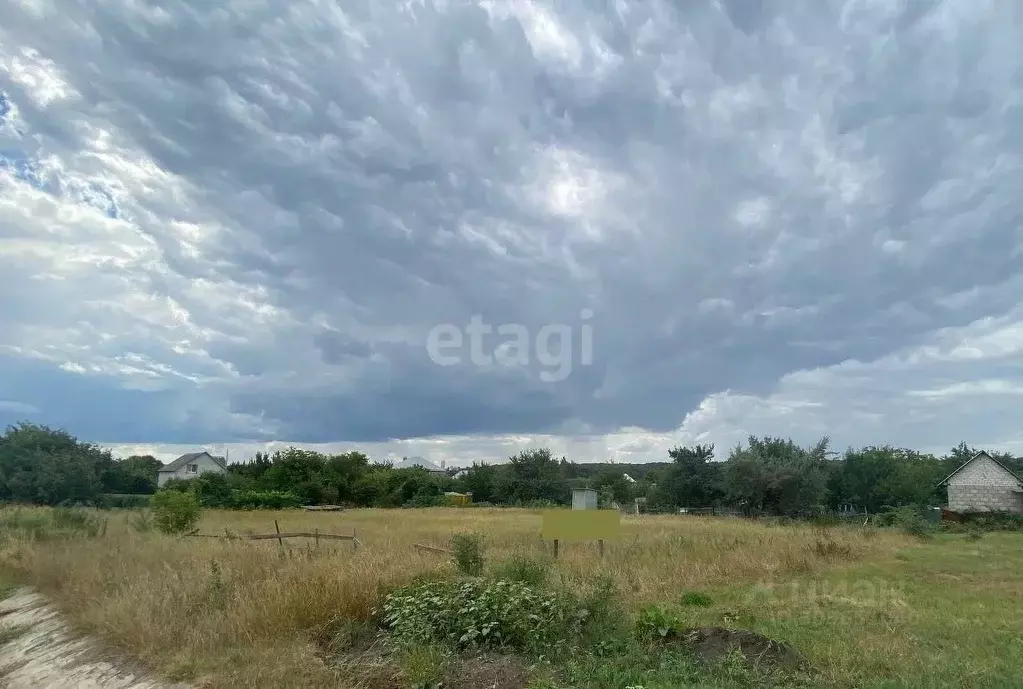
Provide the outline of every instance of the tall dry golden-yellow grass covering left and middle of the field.
[[[4,514],[0,524],[13,518]],[[56,523],[53,514],[24,509],[16,520]],[[351,542],[313,547],[294,541],[280,548],[276,541],[170,537],[138,530],[133,518],[112,514],[104,532],[80,531],[72,543],[37,538],[32,529],[4,529],[0,562],[56,598],[84,630],[101,633],[172,678],[211,687],[337,686],[338,678],[316,658],[318,630],[339,619],[368,621],[382,592],[416,576],[454,571],[449,558],[413,544],[447,548],[453,535],[475,532],[485,537],[493,566],[551,557],[549,544],[539,540],[539,513],[527,510],[211,510],[199,524],[206,534],[272,533],[274,519],[284,532],[354,529],[358,548]],[[911,541],[895,533],[866,539],[852,529],[831,530],[829,538],[833,545],[822,556],[811,527],[626,517],[622,540],[609,544],[603,559],[593,544],[563,543],[546,577],[579,592],[588,591],[597,575],[610,578],[623,603],[638,608],[687,590],[890,557]]]

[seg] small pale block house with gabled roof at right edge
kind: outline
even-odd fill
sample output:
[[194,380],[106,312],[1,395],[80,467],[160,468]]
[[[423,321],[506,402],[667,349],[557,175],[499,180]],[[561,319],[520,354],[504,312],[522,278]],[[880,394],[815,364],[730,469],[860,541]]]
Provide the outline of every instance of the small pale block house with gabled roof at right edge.
[[1023,513],[1023,479],[978,452],[938,486],[948,487],[948,509],[953,512]]

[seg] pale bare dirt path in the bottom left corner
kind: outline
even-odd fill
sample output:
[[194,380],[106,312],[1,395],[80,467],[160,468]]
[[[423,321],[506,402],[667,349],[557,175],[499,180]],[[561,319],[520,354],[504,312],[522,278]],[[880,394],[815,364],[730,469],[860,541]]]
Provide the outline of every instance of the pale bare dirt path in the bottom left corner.
[[76,634],[60,611],[30,589],[0,600],[2,689],[189,689],[140,677]]

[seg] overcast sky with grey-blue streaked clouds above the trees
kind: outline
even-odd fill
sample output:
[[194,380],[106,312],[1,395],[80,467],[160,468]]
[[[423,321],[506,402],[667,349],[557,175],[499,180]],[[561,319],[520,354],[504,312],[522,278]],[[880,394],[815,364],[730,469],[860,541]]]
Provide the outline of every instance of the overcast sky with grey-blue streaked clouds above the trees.
[[0,423],[1023,452],[1019,3],[0,5]]

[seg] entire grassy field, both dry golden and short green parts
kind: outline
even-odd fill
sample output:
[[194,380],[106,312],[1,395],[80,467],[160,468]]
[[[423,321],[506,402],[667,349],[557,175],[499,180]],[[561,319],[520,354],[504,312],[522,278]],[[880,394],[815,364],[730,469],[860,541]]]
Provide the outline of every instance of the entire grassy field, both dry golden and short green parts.
[[[139,533],[131,513],[105,516],[101,534],[71,541],[30,538],[8,518],[0,534],[2,573],[38,587],[83,631],[157,672],[212,688],[416,686],[451,659],[431,647],[345,661],[324,650],[337,647],[331,636],[369,624],[384,592],[417,576],[455,576],[449,558],[413,544],[447,547],[452,535],[476,532],[485,536],[490,569],[516,557],[550,558],[549,544],[539,540],[539,513],[527,510],[203,517],[207,534],[269,533],[277,519],[285,532],[355,530],[362,544],[296,540],[283,551],[275,541]],[[585,596],[610,579],[623,625],[657,604],[686,626],[747,629],[787,642],[809,670],[769,680],[783,686],[1023,687],[1023,535],[919,540],[859,526],[676,516],[625,517],[623,530],[603,559],[593,545],[563,544],[558,561],[544,565],[548,585]],[[697,597],[702,604],[686,604],[694,592],[705,594]],[[629,646],[524,660],[519,675],[508,673],[516,679],[499,686],[667,689],[768,681],[733,660],[707,667],[684,653]],[[374,663],[387,668],[374,673],[367,667]],[[446,686],[476,686],[464,682]]]

